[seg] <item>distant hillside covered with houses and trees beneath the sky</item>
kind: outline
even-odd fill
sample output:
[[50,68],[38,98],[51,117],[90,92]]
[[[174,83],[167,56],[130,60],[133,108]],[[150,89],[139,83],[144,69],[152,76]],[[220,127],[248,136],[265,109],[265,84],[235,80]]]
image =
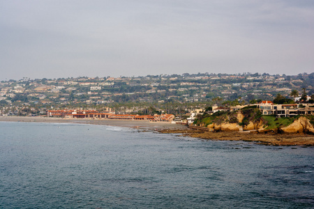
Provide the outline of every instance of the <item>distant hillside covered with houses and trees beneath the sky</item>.
[[[269,100],[274,104],[293,105],[290,110],[286,110],[288,106],[285,105],[267,106],[271,109],[263,109],[263,114],[267,111],[267,114],[292,116],[301,113],[302,102],[313,102],[313,86],[314,73],[10,79],[0,82],[0,115],[45,116],[51,110],[105,112],[110,108],[115,114],[173,114],[179,118],[193,118],[197,109],[205,111],[208,107],[216,107],[216,111],[223,111]],[[296,104],[300,104],[299,110],[293,112]]]

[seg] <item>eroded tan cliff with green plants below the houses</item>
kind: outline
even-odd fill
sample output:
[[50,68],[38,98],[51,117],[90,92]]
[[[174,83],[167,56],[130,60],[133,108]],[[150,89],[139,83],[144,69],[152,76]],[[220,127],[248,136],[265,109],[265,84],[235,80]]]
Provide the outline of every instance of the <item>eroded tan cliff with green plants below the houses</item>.
[[260,110],[242,109],[233,112],[218,112],[211,116],[198,116],[194,125],[208,127],[214,132],[256,131],[278,134],[314,134],[314,116],[295,116],[294,118],[276,118],[262,116]]

